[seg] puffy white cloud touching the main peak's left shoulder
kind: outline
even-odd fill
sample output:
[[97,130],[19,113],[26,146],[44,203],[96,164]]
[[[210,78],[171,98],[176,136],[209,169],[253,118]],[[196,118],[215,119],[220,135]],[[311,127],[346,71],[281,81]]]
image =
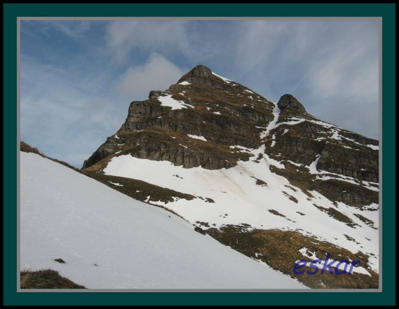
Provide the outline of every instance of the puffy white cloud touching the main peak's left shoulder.
[[129,100],[145,100],[151,90],[165,90],[184,75],[164,56],[153,53],[143,65],[130,67],[121,75],[115,88]]

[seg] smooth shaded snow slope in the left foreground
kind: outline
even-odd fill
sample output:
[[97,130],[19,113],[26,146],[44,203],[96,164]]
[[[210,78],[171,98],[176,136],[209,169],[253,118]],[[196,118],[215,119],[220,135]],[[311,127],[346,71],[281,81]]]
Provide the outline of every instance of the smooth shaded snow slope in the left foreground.
[[21,270],[51,268],[91,289],[306,288],[40,155],[20,153],[20,183]]

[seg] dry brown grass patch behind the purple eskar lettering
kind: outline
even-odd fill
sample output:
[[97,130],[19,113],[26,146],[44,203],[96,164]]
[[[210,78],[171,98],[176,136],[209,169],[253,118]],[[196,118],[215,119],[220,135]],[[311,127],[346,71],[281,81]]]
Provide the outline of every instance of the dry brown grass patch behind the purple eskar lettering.
[[[306,286],[315,289],[377,289],[379,275],[368,268],[368,256],[362,252],[353,254],[347,249],[334,244],[320,241],[316,237],[304,236],[295,231],[260,230],[245,231],[242,227],[226,225],[220,230],[209,228],[206,233],[224,245],[241,252],[253,259],[260,259],[275,270],[281,271],[292,278],[297,278]],[[370,276],[359,273],[351,275],[330,274],[323,275],[320,270],[315,275],[295,275],[294,263],[298,260],[311,259],[304,257],[299,250],[307,248],[320,259],[325,259],[326,253],[330,253],[330,259],[336,260],[360,260],[361,266],[366,268]],[[312,270],[307,267],[307,270]]]

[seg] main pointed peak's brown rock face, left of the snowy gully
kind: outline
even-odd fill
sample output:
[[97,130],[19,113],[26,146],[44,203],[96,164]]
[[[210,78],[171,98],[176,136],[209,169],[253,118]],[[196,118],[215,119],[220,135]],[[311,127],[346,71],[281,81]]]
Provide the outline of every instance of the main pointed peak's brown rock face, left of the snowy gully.
[[[160,102],[162,98],[181,106],[168,107],[168,103]],[[84,161],[83,168],[121,151],[118,145],[122,141],[123,153],[129,149],[139,158],[169,160],[185,167],[228,168],[247,157],[231,154],[230,145],[260,145],[255,126],[273,119],[273,106],[246,87],[225,82],[209,68],[198,65],[168,90],[151,91],[149,100],[130,103],[116,137],[109,137]],[[193,151],[182,146],[190,140],[187,135],[203,136],[208,143],[192,143]]]

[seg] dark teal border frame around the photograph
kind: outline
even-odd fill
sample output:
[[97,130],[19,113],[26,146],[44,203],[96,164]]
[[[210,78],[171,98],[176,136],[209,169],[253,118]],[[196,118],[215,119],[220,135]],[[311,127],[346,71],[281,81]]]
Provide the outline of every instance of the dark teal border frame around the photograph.
[[[149,16],[151,12],[151,16]],[[382,292],[16,292],[17,17],[382,17]],[[395,305],[396,4],[3,4],[3,305]],[[284,293],[284,295],[281,295]],[[333,294],[331,294],[333,293]],[[205,295],[203,295],[205,294]]]

